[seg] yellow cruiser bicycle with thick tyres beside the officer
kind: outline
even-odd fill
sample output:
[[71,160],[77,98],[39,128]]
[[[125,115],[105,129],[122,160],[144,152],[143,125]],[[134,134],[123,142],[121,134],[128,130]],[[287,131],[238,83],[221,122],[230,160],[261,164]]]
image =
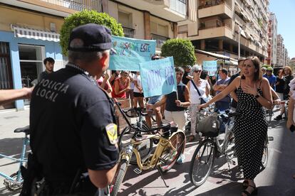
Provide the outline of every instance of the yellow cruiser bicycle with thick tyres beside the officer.
[[[140,112],[141,115],[145,115],[142,111]],[[123,114],[125,114],[125,112],[123,112]],[[128,124],[130,124],[130,122]],[[138,168],[133,170],[135,173],[140,175],[143,170],[157,168],[165,183],[162,173],[167,172],[175,165],[177,158],[179,158],[180,153],[182,153],[182,149],[185,148],[185,134],[178,130],[175,124],[164,124],[161,127],[148,130],[140,129],[140,127],[133,126],[132,124],[130,124],[130,126],[134,130],[133,136],[128,146],[120,151],[118,169],[113,182],[109,185],[110,195],[112,196],[117,195],[133,154],[138,164]],[[160,130],[162,130],[162,133],[160,133]],[[152,131],[156,131],[156,133],[152,134]],[[149,134],[143,136],[142,133]],[[143,141],[147,140],[158,140],[158,143],[152,154],[146,158],[141,158],[137,148]],[[165,186],[169,187],[166,183]]]

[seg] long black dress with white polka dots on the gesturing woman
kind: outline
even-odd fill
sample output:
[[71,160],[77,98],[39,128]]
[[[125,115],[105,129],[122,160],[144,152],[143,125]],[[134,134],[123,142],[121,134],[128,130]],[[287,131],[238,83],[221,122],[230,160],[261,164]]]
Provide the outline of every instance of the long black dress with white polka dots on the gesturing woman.
[[[257,91],[262,94],[260,85]],[[243,92],[241,85],[237,89],[237,98],[238,115],[234,123],[237,158],[243,167],[244,178],[254,180],[260,172],[267,133],[265,111],[252,94]]]

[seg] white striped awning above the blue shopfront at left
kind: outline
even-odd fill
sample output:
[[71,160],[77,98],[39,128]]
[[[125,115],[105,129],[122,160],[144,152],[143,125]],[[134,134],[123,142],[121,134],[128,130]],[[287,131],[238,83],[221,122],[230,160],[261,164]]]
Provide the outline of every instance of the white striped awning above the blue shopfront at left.
[[29,38],[35,40],[48,40],[59,42],[59,34],[51,31],[41,31],[33,28],[27,28],[23,26],[16,26],[11,24],[11,30],[14,31],[14,37],[16,38]]

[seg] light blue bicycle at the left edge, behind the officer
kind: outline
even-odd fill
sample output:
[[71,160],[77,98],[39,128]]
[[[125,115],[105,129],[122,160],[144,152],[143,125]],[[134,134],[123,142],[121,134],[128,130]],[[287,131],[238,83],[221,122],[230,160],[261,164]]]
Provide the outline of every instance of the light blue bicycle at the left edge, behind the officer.
[[[25,136],[23,139],[23,147],[21,149],[21,158],[13,158],[11,156],[6,156],[4,154],[0,154],[1,158],[7,158],[10,160],[16,161],[16,163],[19,163],[19,170],[17,170],[15,173],[11,175],[6,175],[5,173],[0,172],[0,176],[4,177],[4,185],[8,190],[14,191],[21,189],[23,185],[23,178],[21,176],[21,166],[24,165],[24,163],[27,163],[26,156],[26,146],[29,144],[29,134],[30,129],[29,126],[25,126],[22,128],[18,128],[14,130],[14,133],[24,133]],[[26,165],[26,164],[25,164]]]

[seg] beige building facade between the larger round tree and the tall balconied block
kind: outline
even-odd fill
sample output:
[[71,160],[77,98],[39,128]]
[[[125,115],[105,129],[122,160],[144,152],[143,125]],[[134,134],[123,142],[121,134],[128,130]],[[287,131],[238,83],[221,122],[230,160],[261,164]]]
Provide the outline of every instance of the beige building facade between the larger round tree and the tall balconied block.
[[122,24],[126,37],[157,41],[177,38],[177,22],[187,19],[187,0],[110,0],[108,13]]

